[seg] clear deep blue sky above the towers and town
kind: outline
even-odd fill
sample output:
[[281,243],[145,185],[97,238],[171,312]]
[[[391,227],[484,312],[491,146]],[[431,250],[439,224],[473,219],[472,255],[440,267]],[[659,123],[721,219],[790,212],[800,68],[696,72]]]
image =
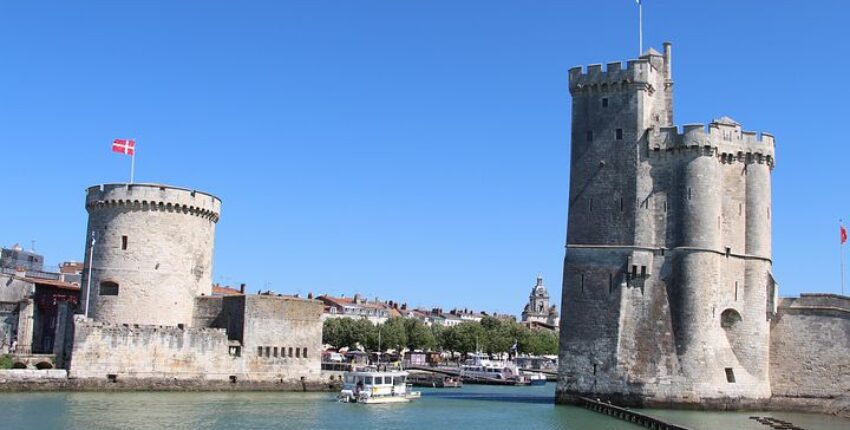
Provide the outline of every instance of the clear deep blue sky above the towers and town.
[[[850,2],[645,0],[675,120],[776,136],[783,295],[838,292]],[[0,6],[0,243],[82,259],[84,190],[223,200],[214,279],[519,313],[560,303],[567,70],[637,54],[634,0]],[[848,283],[850,285],[850,283]],[[849,289],[850,290],[850,289]]]

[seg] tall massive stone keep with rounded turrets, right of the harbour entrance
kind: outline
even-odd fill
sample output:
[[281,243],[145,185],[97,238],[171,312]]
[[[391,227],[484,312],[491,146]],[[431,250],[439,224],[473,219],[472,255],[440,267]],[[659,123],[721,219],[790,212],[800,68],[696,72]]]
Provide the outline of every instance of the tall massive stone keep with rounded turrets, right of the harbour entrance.
[[570,69],[558,399],[770,397],[774,142],[673,125],[671,46]]

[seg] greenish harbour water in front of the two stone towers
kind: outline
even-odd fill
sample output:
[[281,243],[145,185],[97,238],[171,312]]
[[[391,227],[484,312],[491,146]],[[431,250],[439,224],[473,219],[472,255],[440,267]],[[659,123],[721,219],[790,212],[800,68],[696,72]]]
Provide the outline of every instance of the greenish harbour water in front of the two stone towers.
[[[426,389],[410,404],[336,403],[334,393],[3,393],[2,429],[637,429],[552,404],[554,384]],[[804,429],[846,430],[850,420],[799,413],[648,411],[695,430],[768,430],[750,416]]]

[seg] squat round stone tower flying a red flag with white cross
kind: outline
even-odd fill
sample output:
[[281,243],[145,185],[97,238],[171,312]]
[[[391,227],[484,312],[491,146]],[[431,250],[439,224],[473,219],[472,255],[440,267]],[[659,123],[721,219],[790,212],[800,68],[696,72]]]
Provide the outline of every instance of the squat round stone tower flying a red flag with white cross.
[[212,289],[221,200],[165,185],[106,184],[88,189],[86,210],[82,298],[89,297],[89,316],[117,324],[190,326],[195,297]]

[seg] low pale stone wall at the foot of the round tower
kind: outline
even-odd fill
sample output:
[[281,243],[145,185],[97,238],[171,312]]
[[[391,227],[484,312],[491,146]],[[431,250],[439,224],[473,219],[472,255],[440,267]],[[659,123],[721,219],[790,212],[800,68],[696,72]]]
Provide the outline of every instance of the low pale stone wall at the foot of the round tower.
[[214,327],[110,324],[77,316],[70,376],[282,383],[321,379],[321,302],[260,295],[197,302],[195,321]]

